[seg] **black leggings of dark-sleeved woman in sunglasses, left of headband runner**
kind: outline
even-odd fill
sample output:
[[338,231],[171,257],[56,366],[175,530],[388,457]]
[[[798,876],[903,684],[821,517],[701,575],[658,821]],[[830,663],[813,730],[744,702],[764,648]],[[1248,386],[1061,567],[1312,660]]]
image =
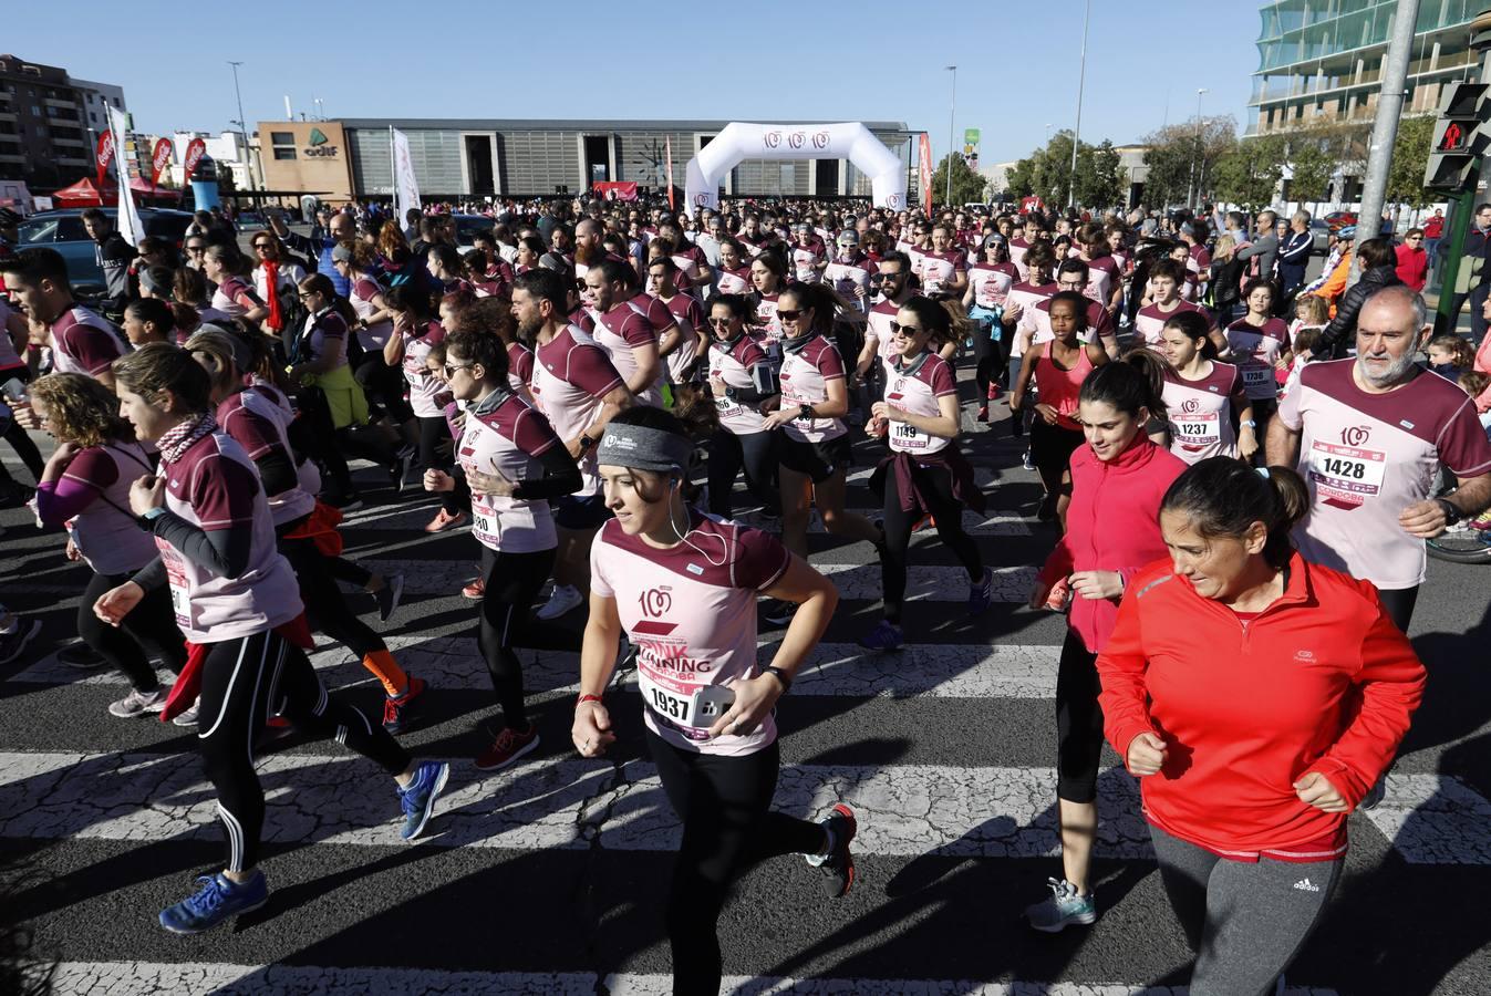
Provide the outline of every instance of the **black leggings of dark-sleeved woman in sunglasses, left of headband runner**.
[[528,729],[528,708],[523,704],[523,666],[513,653],[523,634],[538,589],[553,571],[555,550],[532,553],[498,553],[482,547],[482,577],[486,579],[486,593],[482,596],[482,616],[477,625],[476,643],[486,658],[486,669],[492,675],[492,690],[497,704],[502,707],[502,723],[508,729]]

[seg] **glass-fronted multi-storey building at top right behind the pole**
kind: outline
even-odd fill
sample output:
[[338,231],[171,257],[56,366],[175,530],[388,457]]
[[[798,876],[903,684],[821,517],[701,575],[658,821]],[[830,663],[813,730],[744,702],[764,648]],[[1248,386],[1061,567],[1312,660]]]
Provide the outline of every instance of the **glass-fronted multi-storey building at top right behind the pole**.
[[[1485,0],[1422,0],[1413,30],[1403,113],[1439,107],[1445,83],[1475,72],[1470,21]],[[1397,0],[1273,0],[1258,30],[1258,69],[1246,133],[1370,124]]]

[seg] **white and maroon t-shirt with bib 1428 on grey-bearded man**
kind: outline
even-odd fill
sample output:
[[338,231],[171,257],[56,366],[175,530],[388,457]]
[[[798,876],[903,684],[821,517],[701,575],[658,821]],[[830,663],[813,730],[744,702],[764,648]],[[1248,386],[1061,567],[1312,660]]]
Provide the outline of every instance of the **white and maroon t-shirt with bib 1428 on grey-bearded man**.
[[1355,359],[1306,364],[1279,401],[1279,420],[1300,432],[1299,471],[1309,516],[1294,528],[1300,553],[1382,589],[1424,580],[1424,541],[1399,513],[1433,495],[1446,467],[1458,479],[1491,473],[1491,443],[1472,398],[1419,371],[1388,394],[1352,377]]

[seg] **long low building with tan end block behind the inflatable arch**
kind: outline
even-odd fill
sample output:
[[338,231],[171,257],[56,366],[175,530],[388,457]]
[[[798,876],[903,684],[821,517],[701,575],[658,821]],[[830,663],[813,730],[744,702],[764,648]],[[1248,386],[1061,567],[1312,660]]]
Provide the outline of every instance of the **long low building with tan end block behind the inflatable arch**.
[[[672,182],[728,121],[505,121],[385,119],[261,121],[264,183],[276,191],[319,192],[324,200],[388,197],[389,128],[409,137],[422,197],[480,198],[574,194],[595,182]],[[781,122],[807,124],[807,122]],[[816,122],[813,122],[816,124]],[[910,163],[904,122],[866,121]],[[747,160],[725,179],[726,195],[869,195],[869,177],[848,160]]]

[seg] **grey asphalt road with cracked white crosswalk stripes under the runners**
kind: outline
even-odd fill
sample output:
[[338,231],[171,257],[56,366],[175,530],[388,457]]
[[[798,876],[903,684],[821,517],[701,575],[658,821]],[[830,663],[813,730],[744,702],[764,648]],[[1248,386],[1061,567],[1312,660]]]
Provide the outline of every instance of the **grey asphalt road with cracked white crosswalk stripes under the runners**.
[[[969,419],[963,446],[990,495],[975,535],[1005,599],[986,616],[962,617],[966,579],[923,532],[910,647],[865,655],[854,640],[878,617],[874,552],[811,537],[813,562],[844,601],[780,707],[777,805],[816,817],[848,799],[862,878],[829,901],[796,859],[751,871],[720,921],[728,990],[1184,992],[1170,987],[1185,984],[1188,954],[1121,769],[1100,783],[1100,920],[1054,936],[1018,921],[1060,874],[1051,693],[1063,620],[1020,605],[1054,532],[1026,517],[1039,489],[1003,422]],[[857,453],[860,470],[872,465],[874,447]],[[644,759],[640,699],[631,687],[617,696],[611,757],[579,759],[568,746],[576,656],[561,632],[553,649],[525,655],[543,746],[510,771],[476,771],[495,710],[474,607],[458,595],[476,544],[426,537],[432,502],[401,501],[362,473],[370,507],[344,529],[349,555],[406,570],[404,604],[382,629],[434,689],[428,722],[403,740],[453,760],[428,839],[398,842],[395,796],[373,765],[335,744],[280,743],[259,763],[270,904],[209,935],[161,930],[157,911],[221,853],[192,738],[110,717],[119,678],[58,665],[85,574],[63,559],[61,535],[12,510],[0,513],[0,599],[45,629],[0,672],[0,859],[31,872],[7,913],[61,962],[64,993],[668,992],[661,904],[678,828]],[[872,505],[863,474],[848,504]],[[1488,592],[1485,571],[1431,562],[1412,634],[1427,704],[1387,801],[1351,820],[1345,884],[1290,972],[1291,993],[1491,992]],[[371,601],[359,607],[377,626]],[[318,666],[340,695],[379,708],[380,689],[340,647]]]

